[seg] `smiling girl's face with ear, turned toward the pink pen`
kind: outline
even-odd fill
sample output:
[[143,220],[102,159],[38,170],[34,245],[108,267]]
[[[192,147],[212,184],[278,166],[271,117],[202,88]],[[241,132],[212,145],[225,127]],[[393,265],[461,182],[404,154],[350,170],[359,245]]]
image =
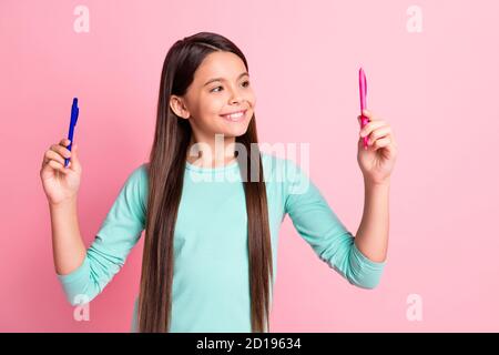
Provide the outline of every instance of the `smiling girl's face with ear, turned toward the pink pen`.
[[[215,134],[235,138],[246,132],[256,97],[244,62],[232,52],[212,52],[197,68],[185,95],[171,99],[172,110],[189,119],[197,140]],[[242,112],[242,115],[227,116]]]

